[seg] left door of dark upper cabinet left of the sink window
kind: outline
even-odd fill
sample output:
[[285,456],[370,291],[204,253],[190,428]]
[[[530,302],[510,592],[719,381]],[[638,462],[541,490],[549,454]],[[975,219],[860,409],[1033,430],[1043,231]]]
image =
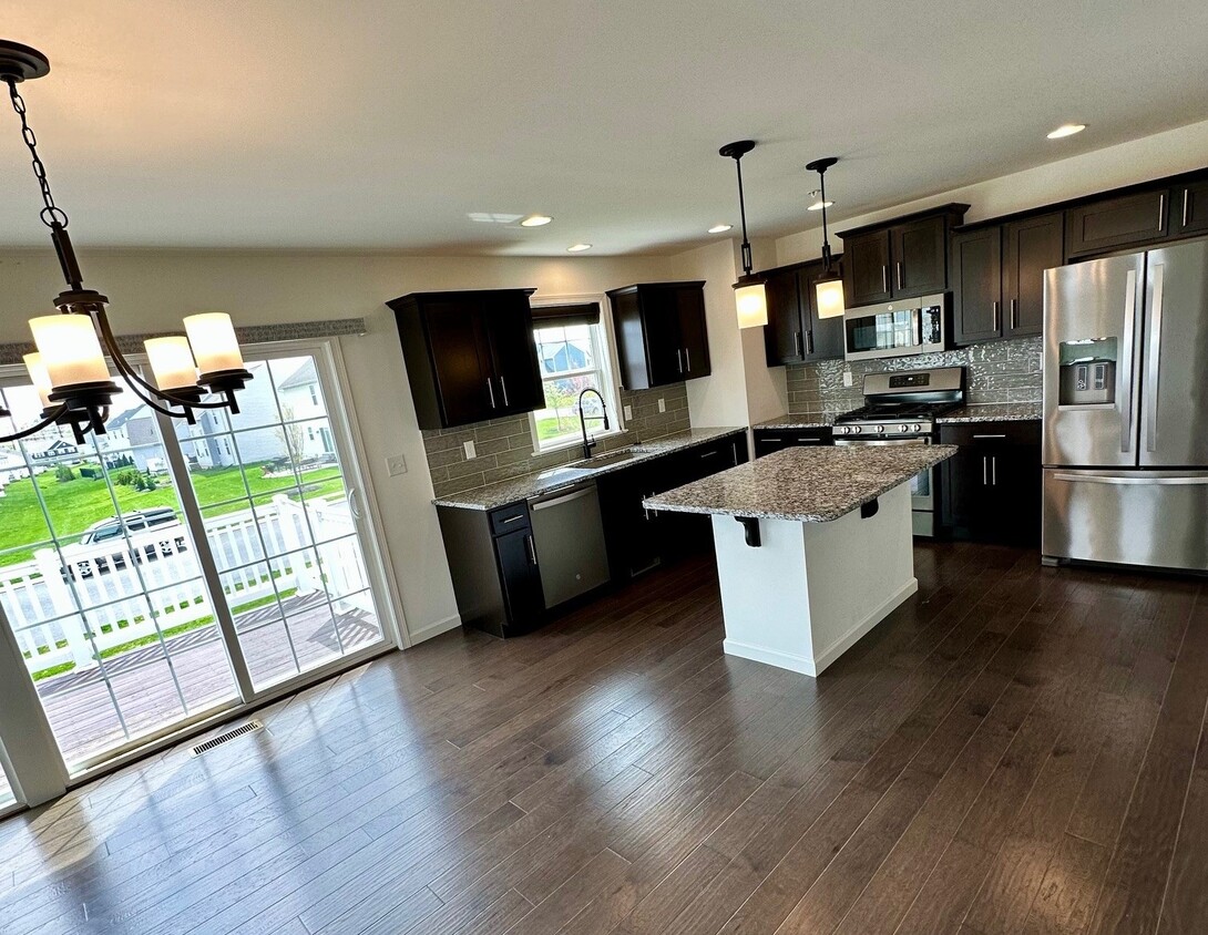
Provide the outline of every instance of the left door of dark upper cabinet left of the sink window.
[[422,307],[446,426],[503,414],[478,300],[429,300]]

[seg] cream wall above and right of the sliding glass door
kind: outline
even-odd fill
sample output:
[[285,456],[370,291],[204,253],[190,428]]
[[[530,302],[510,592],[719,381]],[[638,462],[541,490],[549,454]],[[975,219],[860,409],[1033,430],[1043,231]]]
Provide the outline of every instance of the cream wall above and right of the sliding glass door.
[[[85,240],[86,231],[76,237]],[[207,310],[230,312],[245,325],[366,319],[364,337],[339,343],[385,527],[388,561],[412,633],[447,622],[457,604],[399,336],[383,302],[442,289],[529,286],[539,295],[582,295],[668,278],[668,260],[641,257],[100,250],[82,251],[81,262],[86,284],[112,300],[118,333],[179,331],[182,315]],[[28,341],[27,319],[52,312],[51,298],[62,288],[48,250],[0,252],[0,343]],[[410,470],[390,477],[385,459],[395,454],[406,457]]]

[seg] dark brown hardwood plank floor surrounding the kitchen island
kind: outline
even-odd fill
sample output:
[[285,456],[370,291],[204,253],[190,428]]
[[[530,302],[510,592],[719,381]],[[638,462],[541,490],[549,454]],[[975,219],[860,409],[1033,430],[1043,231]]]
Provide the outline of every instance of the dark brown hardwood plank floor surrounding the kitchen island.
[[1208,931],[1208,591],[916,562],[817,681],[704,561],[383,657],[0,823],[0,931]]

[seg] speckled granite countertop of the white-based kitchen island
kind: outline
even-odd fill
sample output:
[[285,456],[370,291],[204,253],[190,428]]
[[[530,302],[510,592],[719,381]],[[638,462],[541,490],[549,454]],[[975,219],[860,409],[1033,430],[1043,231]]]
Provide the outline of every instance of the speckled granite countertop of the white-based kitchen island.
[[957,453],[954,445],[786,448],[643,501],[651,510],[827,523]]

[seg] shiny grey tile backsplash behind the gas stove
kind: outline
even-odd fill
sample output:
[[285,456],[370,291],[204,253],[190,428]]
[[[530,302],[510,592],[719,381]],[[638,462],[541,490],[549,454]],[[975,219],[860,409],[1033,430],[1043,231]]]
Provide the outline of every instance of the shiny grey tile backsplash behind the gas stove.
[[[785,368],[789,412],[794,416],[840,413],[864,402],[864,374],[884,370],[968,367],[969,402],[1039,402],[1041,338],[1015,338],[974,344],[960,350],[883,360],[823,360]],[[843,385],[843,371],[852,385]]]

